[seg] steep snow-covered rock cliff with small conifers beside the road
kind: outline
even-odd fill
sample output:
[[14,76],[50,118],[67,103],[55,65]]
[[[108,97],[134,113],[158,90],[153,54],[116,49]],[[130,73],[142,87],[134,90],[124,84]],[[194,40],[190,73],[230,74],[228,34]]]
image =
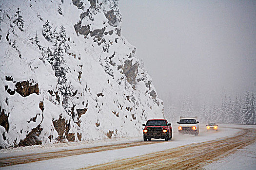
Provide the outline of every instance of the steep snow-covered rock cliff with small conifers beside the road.
[[0,148],[139,136],[163,118],[118,0],[1,0]]

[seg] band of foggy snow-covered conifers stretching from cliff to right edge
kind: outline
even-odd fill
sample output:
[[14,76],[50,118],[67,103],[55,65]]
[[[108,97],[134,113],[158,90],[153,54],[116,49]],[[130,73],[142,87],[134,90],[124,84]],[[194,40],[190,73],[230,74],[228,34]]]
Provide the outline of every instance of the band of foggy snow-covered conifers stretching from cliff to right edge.
[[217,122],[230,124],[256,124],[256,98],[254,92],[246,92],[243,97],[224,96],[221,104],[203,104],[199,111],[194,110],[194,105],[189,97],[185,97],[179,111],[174,105],[165,108],[167,119],[177,121],[179,115],[186,117],[198,116],[202,123]]

